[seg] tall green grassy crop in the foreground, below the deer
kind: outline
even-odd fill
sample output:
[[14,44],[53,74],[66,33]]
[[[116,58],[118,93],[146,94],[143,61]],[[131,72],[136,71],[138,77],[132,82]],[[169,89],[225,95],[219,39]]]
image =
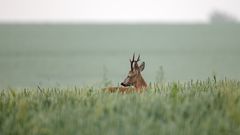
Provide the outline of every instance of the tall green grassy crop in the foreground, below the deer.
[[1,135],[239,134],[240,82],[172,82],[143,93],[96,88],[0,91]]

